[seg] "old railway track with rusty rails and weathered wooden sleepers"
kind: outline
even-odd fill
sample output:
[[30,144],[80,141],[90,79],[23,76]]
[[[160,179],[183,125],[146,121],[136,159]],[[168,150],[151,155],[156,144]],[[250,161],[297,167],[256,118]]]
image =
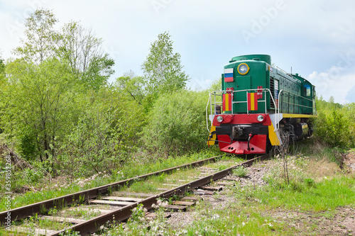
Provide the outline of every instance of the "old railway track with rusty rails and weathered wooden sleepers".
[[[99,186],[94,189],[88,189],[86,191],[80,191],[78,193],[68,194],[66,196],[62,196],[59,198],[53,198],[47,201],[42,201],[40,203],[34,203],[28,206],[23,206],[20,208],[15,208],[9,211],[5,211],[0,213],[0,223],[4,226],[6,223],[6,216],[11,214],[11,219],[21,220],[24,218],[28,218],[35,214],[40,214],[41,210],[43,209],[51,209],[57,208],[57,206],[64,207],[70,206],[72,203],[83,203],[87,202],[89,204],[107,204],[111,206],[116,206],[116,208],[111,208],[110,210],[99,210],[100,215],[94,218],[90,218],[89,220],[77,220],[77,219],[70,219],[70,218],[51,218],[50,216],[40,216],[41,218],[48,218],[52,220],[61,220],[63,222],[69,222],[73,225],[67,230],[73,230],[80,232],[80,235],[90,235],[94,232],[98,232],[100,230],[100,226],[107,225],[110,223],[117,223],[123,222],[127,220],[132,213],[133,208],[137,206],[143,206],[147,210],[150,210],[152,206],[157,204],[158,199],[161,198],[172,198],[173,196],[184,196],[185,193],[192,191],[193,189],[197,189],[201,186],[205,186],[212,181],[217,181],[217,179],[222,179],[224,176],[227,176],[232,172],[233,169],[241,166],[249,167],[254,162],[262,161],[266,159],[268,156],[263,155],[261,157],[256,157],[254,159],[250,159],[246,162],[242,162],[240,164],[236,164],[234,166],[228,167],[223,169],[222,171],[218,171],[217,169],[212,169],[212,172],[208,172],[201,170],[201,174],[204,176],[200,177],[199,179],[188,181],[184,184],[170,184],[170,187],[173,186],[171,189],[161,189],[159,193],[147,194],[147,193],[131,193],[134,197],[125,197],[125,196],[105,196],[108,193],[113,193],[114,191],[122,188],[131,186],[132,184],[136,183],[137,181],[146,180],[151,176],[161,176],[162,174],[171,174],[176,170],[185,169],[185,168],[195,168],[200,167],[204,164],[210,162],[217,162],[219,157],[212,157],[209,159],[204,159],[199,162],[192,162],[190,164],[184,164],[179,167],[173,167],[170,169],[164,169],[160,172],[153,172],[151,174],[145,174],[142,176],[137,176],[135,178],[126,179],[124,181],[119,181],[113,184],[107,184],[105,186]],[[204,187],[204,189],[208,189],[208,187]],[[215,189],[211,189],[212,191]],[[122,192],[119,192],[124,194]],[[112,195],[112,194],[109,194]],[[104,197],[102,197],[104,196]],[[100,199],[97,199],[100,198]],[[182,198],[184,199],[184,198]],[[185,209],[187,206],[191,206],[192,203],[185,202],[185,201],[175,201],[175,205],[168,206],[168,208],[173,210],[182,210]],[[59,208],[59,207],[58,207]],[[25,228],[26,229],[26,228]],[[23,228],[21,227],[13,227],[12,230],[16,230],[17,232],[22,232]],[[60,235],[60,232],[63,230],[36,230],[37,235]]]

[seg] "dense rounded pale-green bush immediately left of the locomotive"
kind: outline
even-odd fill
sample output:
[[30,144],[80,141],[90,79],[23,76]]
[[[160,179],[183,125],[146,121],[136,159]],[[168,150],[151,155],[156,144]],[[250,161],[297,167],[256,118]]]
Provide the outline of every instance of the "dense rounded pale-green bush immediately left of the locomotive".
[[168,157],[206,147],[205,101],[205,94],[195,91],[160,96],[143,129],[148,150]]

